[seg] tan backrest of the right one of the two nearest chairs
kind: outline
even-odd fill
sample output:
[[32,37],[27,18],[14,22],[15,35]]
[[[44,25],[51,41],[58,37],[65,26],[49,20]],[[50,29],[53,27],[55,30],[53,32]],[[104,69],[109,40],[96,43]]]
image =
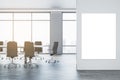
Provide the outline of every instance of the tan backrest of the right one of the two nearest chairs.
[[34,45],[33,42],[30,41],[25,41],[24,43],[24,52],[25,52],[25,57],[34,57]]

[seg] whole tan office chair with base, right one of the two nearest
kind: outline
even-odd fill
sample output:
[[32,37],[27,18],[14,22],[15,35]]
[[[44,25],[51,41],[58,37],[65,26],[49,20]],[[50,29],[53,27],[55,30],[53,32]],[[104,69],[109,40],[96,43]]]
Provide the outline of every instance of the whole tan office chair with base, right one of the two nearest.
[[[33,68],[34,65],[36,67],[38,67],[38,65],[36,65],[35,63],[32,63],[32,58],[34,57],[34,45],[33,42],[30,41],[25,41],[24,43],[24,52],[25,52],[25,65],[24,67],[30,67]],[[27,61],[27,58],[29,58],[29,62]]]

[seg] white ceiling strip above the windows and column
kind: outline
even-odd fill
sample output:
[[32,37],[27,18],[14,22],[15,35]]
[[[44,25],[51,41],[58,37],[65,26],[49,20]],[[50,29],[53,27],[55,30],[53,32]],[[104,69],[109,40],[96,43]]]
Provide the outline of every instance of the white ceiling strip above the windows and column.
[[0,8],[76,8],[75,0],[0,0]]

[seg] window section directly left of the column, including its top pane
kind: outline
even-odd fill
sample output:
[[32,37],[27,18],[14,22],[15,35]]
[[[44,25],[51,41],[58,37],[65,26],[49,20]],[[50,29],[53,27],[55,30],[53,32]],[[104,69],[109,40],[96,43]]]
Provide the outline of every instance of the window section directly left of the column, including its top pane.
[[[50,45],[50,14],[33,13],[32,37],[33,41],[42,41],[43,45]],[[43,48],[44,53],[48,53],[49,46]]]

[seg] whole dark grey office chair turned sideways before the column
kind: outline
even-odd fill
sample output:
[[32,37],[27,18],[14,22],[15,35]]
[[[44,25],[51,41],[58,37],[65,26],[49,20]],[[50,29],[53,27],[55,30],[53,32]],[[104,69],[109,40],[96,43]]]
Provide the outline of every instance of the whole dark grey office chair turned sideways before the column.
[[54,60],[54,55],[57,55],[57,49],[58,49],[58,42],[54,42],[52,49],[49,49],[51,59],[46,60],[46,62],[48,62],[48,63],[59,62],[58,60]]

